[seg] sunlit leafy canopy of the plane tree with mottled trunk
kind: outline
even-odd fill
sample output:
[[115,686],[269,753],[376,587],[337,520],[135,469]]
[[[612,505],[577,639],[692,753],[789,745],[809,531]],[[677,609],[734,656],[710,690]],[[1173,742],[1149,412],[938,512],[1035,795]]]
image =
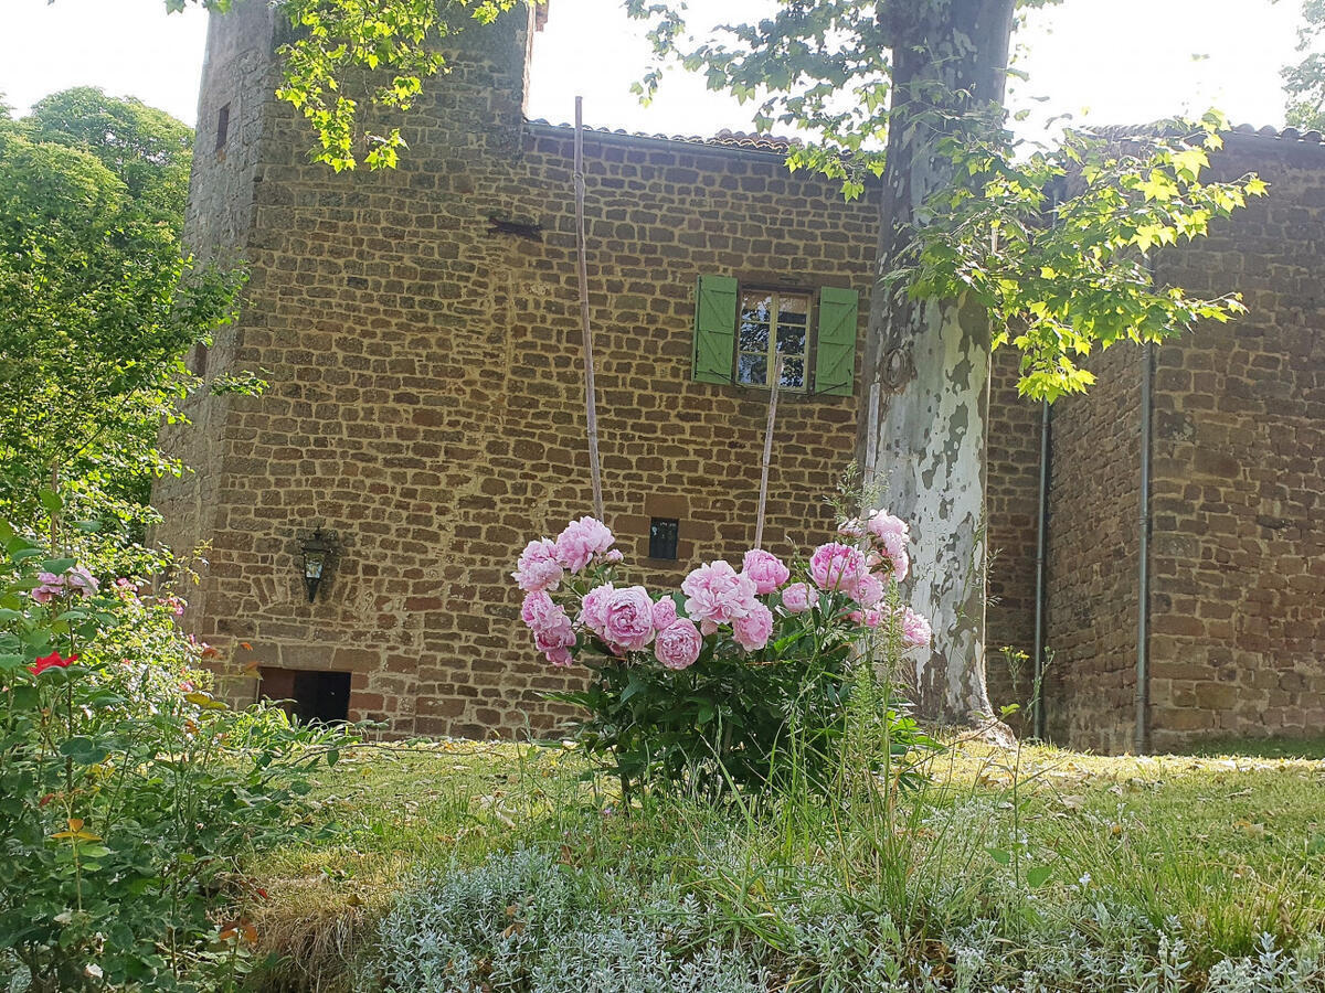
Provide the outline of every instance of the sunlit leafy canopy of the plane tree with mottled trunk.
[[[1325,0],[1312,1],[1325,8]],[[885,154],[890,106],[904,94],[906,127],[924,135],[912,140],[926,146],[925,155],[935,150],[951,183],[914,218],[885,221],[902,230],[882,286],[913,299],[979,303],[995,328],[992,346],[1020,350],[1026,396],[1053,400],[1085,389],[1092,376],[1076,360],[1094,346],[1155,342],[1198,319],[1243,311],[1236,294],[1199,299],[1155,285],[1150,265],[1158,249],[1206,234],[1211,221],[1267,189],[1252,175],[1203,181],[1226,123],[1218,114],[1112,139],[1068,131],[1056,144],[1032,147],[1007,130],[1002,106],[945,91],[933,78],[897,78],[897,45],[933,62],[999,41],[955,26],[937,37],[931,25],[943,20],[935,12],[950,15],[955,0],[778,0],[758,23],[698,33],[684,4],[625,4],[648,23],[659,58],[636,87],[645,101],[668,61],[702,73],[710,89],[757,99],[761,128],[776,122],[804,131],[811,140],[791,152],[788,166],[841,180],[848,197],[871,175],[905,187],[908,177],[888,175]],[[925,25],[920,37],[917,24]]]

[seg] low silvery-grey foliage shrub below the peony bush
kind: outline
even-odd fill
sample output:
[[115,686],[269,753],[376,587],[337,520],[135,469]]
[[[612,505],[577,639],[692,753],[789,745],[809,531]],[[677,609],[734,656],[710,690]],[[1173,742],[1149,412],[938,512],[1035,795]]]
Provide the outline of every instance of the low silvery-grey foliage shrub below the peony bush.
[[[612,906],[620,907],[613,912]],[[761,993],[753,953],[693,898],[521,850],[416,880],[382,923],[363,985],[409,993]],[[374,986],[368,986],[374,988]]]

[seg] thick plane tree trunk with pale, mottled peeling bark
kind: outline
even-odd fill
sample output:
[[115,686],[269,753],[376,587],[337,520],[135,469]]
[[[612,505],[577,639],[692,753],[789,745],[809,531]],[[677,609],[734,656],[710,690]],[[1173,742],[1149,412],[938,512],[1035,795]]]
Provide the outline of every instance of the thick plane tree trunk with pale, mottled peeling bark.
[[[962,115],[1000,105],[1014,0],[893,0],[893,105],[876,274],[906,262],[922,207],[953,179],[939,142]],[[957,122],[955,124],[953,122]],[[967,118],[969,122],[969,118]],[[860,459],[912,526],[910,604],[934,629],[916,654],[922,716],[983,723],[984,434],[990,327],[961,301],[912,301],[876,283],[865,350]]]

